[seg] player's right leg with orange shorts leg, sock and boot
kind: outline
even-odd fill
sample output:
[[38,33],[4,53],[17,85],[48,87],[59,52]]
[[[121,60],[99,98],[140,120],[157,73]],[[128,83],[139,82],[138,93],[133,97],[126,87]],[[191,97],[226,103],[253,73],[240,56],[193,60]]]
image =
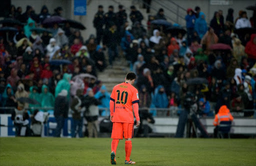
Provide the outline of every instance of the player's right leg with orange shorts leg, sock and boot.
[[135,164],[134,161],[130,159],[130,153],[132,149],[131,138],[133,137],[133,123],[124,123],[123,125],[123,136],[125,138],[125,164]]

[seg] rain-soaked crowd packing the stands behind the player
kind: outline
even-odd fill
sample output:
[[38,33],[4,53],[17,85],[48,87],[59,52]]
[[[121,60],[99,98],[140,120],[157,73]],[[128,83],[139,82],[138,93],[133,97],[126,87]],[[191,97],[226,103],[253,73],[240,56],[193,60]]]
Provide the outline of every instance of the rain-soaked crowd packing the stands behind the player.
[[[151,23],[166,20],[162,8],[156,15],[148,15],[147,26],[143,26],[141,20],[145,18],[135,6],[130,6],[127,15],[122,5],[118,12],[114,12],[112,5],[104,12],[99,5],[93,19],[96,34],[84,40],[69,23],[43,23],[51,16],[61,16],[61,7],[50,14],[44,5],[36,14],[29,5],[23,13],[21,7],[12,5],[6,17],[19,20],[24,26],[14,23],[17,33],[0,36],[0,106],[15,106],[17,110],[54,107],[60,129],[67,108],[71,107],[76,120],[73,127],[81,126],[85,115],[89,135],[96,136],[97,105],[109,108],[110,96],[97,80],[97,72],[111,68],[112,61],[124,54],[130,70],[137,75],[140,108],[169,107],[177,111],[188,91],[195,94],[203,116],[213,116],[222,105],[231,111],[255,108],[256,34],[234,32],[256,27],[256,12],[250,19],[242,10],[239,17],[233,18],[233,12],[229,8],[224,19],[222,11],[216,11],[208,26],[200,7],[188,8],[185,31],[176,23],[172,28]],[[37,27],[48,31],[33,30]],[[197,77],[207,79],[207,83],[188,83]],[[38,103],[24,104],[17,100],[19,97],[29,97]],[[32,108],[30,111],[33,113]]]

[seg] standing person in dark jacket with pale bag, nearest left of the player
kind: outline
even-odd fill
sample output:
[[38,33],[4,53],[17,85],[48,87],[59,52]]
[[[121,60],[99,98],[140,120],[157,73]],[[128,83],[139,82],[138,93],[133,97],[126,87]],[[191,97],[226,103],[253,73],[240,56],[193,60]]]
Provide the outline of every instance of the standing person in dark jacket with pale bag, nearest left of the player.
[[94,97],[92,88],[87,88],[85,97],[82,98],[82,106],[84,105],[86,111],[84,112],[85,119],[88,123],[88,137],[97,137],[98,128],[98,106],[100,101]]

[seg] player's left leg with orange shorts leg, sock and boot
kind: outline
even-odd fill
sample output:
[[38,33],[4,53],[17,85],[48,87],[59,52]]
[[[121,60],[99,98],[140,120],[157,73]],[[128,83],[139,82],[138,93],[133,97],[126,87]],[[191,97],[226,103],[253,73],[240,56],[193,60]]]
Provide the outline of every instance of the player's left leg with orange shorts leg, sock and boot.
[[115,154],[116,154],[116,148],[118,146],[119,139],[122,139],[123,137],[123,129],[122,129],[122,123],[118,122],[113,122],[113,127],[112,127],[112,142],[111,142],[111,164],[116,164],[115,160]]

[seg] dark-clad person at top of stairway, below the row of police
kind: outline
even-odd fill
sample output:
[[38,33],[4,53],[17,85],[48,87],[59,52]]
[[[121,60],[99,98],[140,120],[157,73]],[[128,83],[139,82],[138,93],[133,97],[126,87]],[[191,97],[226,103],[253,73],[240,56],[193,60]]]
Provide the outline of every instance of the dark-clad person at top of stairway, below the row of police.
[[110,28],[106,29],[104,36],[103,36],[103,47],[108,48],[108,60],[109,65],[112,66],[112,61],[114,57],[118,55],[117,52],[117,38],[118,32],[116,31],[116,25],[111,22]]

